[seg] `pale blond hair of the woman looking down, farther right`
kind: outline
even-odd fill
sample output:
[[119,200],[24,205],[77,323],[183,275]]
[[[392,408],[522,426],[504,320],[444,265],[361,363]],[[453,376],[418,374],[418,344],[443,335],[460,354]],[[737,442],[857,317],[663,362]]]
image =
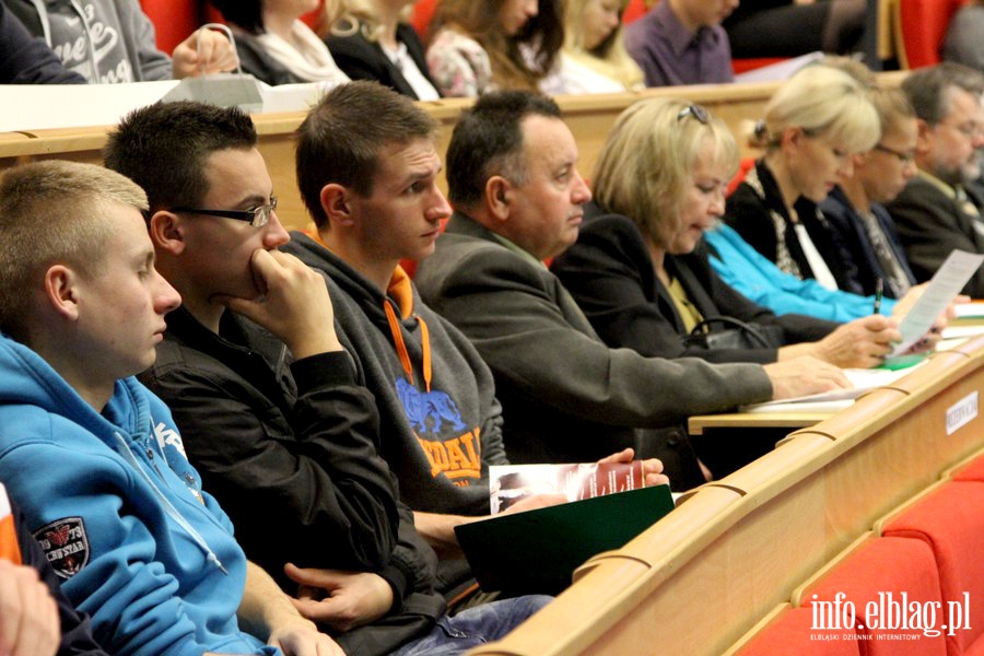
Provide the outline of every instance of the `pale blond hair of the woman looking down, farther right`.
[[828,66],[808,66],[787,80],[765,106],[757,137],[777,148],[787,128],[812,137],[828,136],[851,152],[870,150],[881,134],[867,90],[850,74]]

